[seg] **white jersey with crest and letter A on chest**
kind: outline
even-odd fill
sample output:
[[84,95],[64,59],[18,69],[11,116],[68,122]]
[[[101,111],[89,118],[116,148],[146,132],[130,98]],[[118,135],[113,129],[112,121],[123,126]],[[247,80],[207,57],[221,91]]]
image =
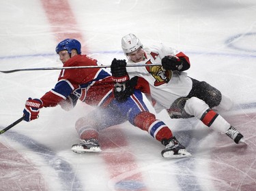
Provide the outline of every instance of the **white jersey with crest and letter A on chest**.
[[[160,44],[151,48],[143,48],[145,51],[145,60],[134,63],[131,60],[128,64],[134,64],[134,67],[126,67],[130,78],[134,76],[142,77],[144,81],[143,89],[149,90],[153,99],[153,106],[156,112],[162,109],[169,109],[175,99],[186,97],[192,88],[192,80],[183,71],[165,71],[161,66],[150,66],[152,63],[161,64],[162,58],[167,55],[175,55],[179,58],[185,58],[190,65],[188,57],[182,52]],[[136,64],[148,64],[148,67],[136,67]],[[138,83],[141,82],[140,80]]]

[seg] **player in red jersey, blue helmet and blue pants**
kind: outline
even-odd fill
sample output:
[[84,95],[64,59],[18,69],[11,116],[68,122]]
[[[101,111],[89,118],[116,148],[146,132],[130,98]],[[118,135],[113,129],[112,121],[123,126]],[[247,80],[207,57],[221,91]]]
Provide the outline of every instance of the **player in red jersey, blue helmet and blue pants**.
[[[56,52],[63,67],[91,66],[98,63],[97,60],[81,54],[81,44],[76,39],[61,41],[56,47]],[[37,119],[42,107],[60,105],[69,110],[79,99],[97,107],[89,115],[76,121],[76,130],[82,141],[72,145],[72,151],[100,152],[98,131],[128,120],[166,146],[165,150],[162,150],[163,157],[191,156],[173,137],[170,128],[148,111],[143,103],[141,91],[134,90],[132,84],[133,80],[126,80],[125,88],[129,91],[129,96],[126,101],[119,102],[113,96],[113,77],[105,69],[62,69],[55,88],[46,92],[40,99],[29,98],[26,101],[23,110],[25,120],[29,122]]]

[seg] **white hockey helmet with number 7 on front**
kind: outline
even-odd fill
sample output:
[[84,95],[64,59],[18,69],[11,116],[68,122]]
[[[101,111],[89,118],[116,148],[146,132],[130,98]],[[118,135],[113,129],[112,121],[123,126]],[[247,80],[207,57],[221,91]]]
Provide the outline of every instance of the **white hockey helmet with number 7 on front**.
[[143,45],[141,44],[141,41],[132,33],[122,37],[121,43],[122,43],[122,49],[124,51],[124,54],[134,52],[140,47],[143,47]]

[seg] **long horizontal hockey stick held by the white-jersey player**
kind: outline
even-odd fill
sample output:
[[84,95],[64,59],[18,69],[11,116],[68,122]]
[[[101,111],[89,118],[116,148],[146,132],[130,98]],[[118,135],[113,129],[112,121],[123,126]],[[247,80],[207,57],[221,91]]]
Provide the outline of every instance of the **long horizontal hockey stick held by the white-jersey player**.
[[[131,64],[126,67],[146,67],[146,66],[160,66],[160,64]],[[43,67],[43,68],[26,68],[26,69],[13,69],[0,71],[1,73],[13,73],[17,71],[36,71],[36,70],[57,70],[57,69],[91,69],[91,68],[107,68],[111,65],[99,65],[99,66],[81,66],[81,67]]]

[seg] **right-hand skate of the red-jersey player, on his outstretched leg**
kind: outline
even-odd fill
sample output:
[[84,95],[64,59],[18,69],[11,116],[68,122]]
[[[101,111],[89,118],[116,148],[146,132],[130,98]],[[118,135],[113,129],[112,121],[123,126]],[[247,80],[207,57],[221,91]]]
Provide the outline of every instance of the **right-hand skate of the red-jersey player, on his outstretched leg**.
[[175,137],[169,139],[169,143],[165,146],[165,150],[162,150],[161,154],[162,157],[169,159],[186,158],[192,156]]

